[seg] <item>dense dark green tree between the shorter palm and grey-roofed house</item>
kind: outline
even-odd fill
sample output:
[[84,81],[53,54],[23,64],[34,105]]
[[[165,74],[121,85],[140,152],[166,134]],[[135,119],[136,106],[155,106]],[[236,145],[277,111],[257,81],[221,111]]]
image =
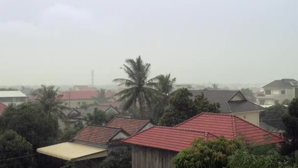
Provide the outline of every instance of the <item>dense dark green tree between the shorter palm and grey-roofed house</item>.
[[159,125],[172,127],[177,125],[200,112],[220,112],[218,103],[210,103],[204,95],[198,95],[195,100],[187,88],[181,88],[174,92],[169,99],[169,105],[164,114],[159,118]]

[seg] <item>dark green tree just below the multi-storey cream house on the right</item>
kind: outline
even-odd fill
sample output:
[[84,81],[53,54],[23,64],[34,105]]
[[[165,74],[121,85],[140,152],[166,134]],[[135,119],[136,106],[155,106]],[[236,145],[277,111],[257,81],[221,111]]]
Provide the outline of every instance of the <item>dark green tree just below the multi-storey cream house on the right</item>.
[[287,112],[287,109],[287,107],[280,104],[266,108],[264,112],[260,112],[260,121],[279,130],[283,130],[282,115]]

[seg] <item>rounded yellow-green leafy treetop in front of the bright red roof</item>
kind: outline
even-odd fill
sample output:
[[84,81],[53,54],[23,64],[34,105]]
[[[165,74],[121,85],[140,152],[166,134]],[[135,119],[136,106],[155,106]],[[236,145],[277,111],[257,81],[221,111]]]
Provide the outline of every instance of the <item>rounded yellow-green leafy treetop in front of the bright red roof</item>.
[[241,147],[239,139],[198,138],[192,142],[192,147],[183,149],[173,158],[173,164],[178,168],[223,168],[228,164],[228,156]]

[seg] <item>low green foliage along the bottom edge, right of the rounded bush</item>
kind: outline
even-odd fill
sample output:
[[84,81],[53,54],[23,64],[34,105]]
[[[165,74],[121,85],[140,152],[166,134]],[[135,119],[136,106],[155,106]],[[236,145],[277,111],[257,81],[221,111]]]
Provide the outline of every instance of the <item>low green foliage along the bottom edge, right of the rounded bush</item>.
[[265,155],[254,155],[241,148],[228,157],[229,168],[293,168],[289,158],[276,151],[268,151]]

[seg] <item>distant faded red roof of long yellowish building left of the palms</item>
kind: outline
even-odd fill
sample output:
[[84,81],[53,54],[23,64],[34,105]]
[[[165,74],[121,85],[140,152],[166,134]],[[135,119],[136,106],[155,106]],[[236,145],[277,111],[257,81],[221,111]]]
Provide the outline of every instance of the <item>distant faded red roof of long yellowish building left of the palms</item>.
[[98,95],[97,90],[71,90],[63,91],[59,94],[63,95],[61,100],[74,100],[74,99],[92,99]]

